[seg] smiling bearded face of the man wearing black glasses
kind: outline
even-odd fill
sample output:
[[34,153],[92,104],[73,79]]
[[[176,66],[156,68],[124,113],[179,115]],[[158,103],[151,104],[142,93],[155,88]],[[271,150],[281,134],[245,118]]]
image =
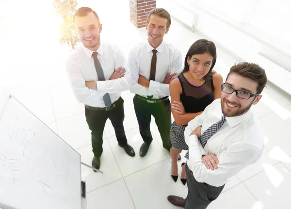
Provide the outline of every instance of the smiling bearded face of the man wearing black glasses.
[[[252,94],[257,93],[258,83],[250,78],[243,77],[236,73],[232,73],[226,80],[226,85],[235,89],[243,90]],[[237,97],[236,92],[227,94],[221,92],[221,109],[226,117],[240,116],[246,113],[253,104],[257,104],[261,99],[261,95],[250,97],[249,99],[242,99]]]

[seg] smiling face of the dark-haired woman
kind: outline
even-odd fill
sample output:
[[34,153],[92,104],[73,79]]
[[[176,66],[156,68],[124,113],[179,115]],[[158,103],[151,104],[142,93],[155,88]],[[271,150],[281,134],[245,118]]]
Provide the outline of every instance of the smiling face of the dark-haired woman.
[[189,65],[189,71],[194,79],[201,80],[208,74],[212,60],[213,57],[208,53],[194,54],[191,58],[188,56],[187,63]]

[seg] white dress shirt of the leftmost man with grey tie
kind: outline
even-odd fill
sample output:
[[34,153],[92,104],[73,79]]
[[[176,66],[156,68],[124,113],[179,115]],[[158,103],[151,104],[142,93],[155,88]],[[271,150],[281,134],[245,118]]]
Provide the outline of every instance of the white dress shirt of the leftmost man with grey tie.
[[[101,43],[97,49],[105,81],[98,81],[95,69],[93,51],[84,45],[78,45],[67,59],[66,70],[73,92],[80,103],[93,107],[106,107],[103,96],[109,93],[111,102],[120,97],[120,92],[129,90],[132,86],[131,72],[127,67],[122,51],[116,45]],[[124,67],[124,77],[109,80],[113,72]],[[97,81],[97,90],[86,87],[85,81]]]

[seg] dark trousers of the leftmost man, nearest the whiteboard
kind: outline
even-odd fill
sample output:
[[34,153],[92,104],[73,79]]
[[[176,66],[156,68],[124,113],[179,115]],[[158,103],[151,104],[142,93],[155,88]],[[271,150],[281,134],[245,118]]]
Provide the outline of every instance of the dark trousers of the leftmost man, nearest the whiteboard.
[[92,110],[85,107],[85,116],[89,129],[92,135],[92,148],[95,157],[100,157],[103,149],[103,131],[107,119],[111,120],[113,125],[117,141],[121,145],[127,145],[127,138],[125,136],[123,120],[124,109],[123,99],[119,99],[115,102],[115,107],[108,111],[106,110]]

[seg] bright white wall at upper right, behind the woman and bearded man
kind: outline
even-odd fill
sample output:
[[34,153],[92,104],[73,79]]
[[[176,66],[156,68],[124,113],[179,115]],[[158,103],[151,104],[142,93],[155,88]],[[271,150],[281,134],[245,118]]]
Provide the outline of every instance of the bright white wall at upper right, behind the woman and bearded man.
[[[268,5],[262,7],[263,2]],[[285,19],[291,15],[291,7],[286,8],[287,0],[276,0],[276,4],[272,0],[157,0],[157,4],[182,22],[196,15],[196,32],[237,61],[258,63],[269,81],[291,94],[291,41],[284,39],[291,34],[287,24],[291,18]],[[268,7],[283,9],[271,13],[270,8],[264,10]],[[278,34],[275,29],[285,30],[286,34]]]

